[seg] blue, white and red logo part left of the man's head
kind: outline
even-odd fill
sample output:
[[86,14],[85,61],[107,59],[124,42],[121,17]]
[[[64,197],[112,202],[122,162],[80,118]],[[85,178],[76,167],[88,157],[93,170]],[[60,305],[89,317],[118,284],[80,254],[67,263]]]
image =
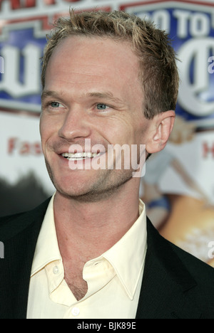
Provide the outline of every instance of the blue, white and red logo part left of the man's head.
[[[41,57],[46,34],[58,16],[68,16],[69,6],[81,0],[0,1],[0,105],[14,110],[40,112]],[[111,6],[90,8],[111,11]],[[84,5],[86,6],[86,5]],[[83,7],[83,9],[86,9]],[[4,75],[3,75],[4,73]]]

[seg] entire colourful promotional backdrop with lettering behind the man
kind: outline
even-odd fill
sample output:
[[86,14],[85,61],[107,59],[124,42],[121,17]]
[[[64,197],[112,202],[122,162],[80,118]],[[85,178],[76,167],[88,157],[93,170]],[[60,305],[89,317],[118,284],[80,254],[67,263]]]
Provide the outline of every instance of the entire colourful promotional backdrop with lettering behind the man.
[[33,208],[54,192],[39,137],[41,57],[46,33],[69,7],[128,11],[173,39],[177,119],[168,146],[148,160],[140,195],[165,238],[213,265],[213,0],[0,1],[0,216]]

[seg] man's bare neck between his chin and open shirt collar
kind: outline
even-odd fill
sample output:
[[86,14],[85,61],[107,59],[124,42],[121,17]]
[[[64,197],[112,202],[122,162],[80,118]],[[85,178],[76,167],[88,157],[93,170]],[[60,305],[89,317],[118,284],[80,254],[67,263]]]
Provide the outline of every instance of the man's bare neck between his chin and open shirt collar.
[[117,243],[139,215],[138,191],[128,198],[125,193],[88,203],[56,192],[54,218],[61,253],[69,257],[75,248],[88,253],[89,260]]

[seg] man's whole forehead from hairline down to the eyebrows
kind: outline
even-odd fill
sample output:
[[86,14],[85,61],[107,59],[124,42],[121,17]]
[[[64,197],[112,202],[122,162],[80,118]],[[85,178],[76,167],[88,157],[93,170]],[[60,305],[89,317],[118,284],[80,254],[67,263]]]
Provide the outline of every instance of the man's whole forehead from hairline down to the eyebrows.
[[139,61],[129,42],[69,36],[58,44],[49,60],[45,89],[76,96],[110,91],[131,102],[142,98]]

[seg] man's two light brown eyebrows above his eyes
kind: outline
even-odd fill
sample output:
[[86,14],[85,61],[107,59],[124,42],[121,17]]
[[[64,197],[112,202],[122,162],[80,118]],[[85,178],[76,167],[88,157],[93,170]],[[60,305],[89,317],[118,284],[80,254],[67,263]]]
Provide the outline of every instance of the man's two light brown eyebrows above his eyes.
[[[46,97],[54,97],[54,98],[61,98],[61,93],[57,93],[53,90],[44,90],[41,94],[41,100],[44,100]],[[99,93],[99,92],[93,92],[93,93],[87,93],[85,97],[97,97],[100,99],[108,99],[111,100],[111,102],[116,102],[119,104],[123,104],[123,100],[121,100],[118,97],[115,97],[113,93],[106,92],[106,93]]]

